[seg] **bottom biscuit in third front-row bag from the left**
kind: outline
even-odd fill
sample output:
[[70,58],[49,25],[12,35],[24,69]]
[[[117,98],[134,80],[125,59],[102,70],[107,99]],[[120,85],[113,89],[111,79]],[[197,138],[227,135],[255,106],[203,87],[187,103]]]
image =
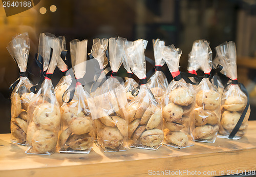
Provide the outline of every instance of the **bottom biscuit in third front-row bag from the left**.
[[89,134],[71,135],[67,141],[67,146],[73,150],[87,150],[93,147],[93,137]]

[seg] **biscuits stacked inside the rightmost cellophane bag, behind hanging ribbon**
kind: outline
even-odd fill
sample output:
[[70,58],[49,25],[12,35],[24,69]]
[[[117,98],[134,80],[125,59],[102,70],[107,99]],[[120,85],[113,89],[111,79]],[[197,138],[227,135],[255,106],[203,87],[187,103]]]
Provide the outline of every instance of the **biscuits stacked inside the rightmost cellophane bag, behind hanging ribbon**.
[[[238,123],[243,110],[246,106],[247,99],[246,97],[241,96],[229,96],[225,100],[222,101],[221,108],[221,127],[219,133],[221,135],[228,136],[231,131],[234,129],[236,124]],[[250,107],[247,110],[247,113],[244,117],[243,123],[240,126],[236,136],[242,137],[245,134],[245,130],[248,126],[248,119],[250,116]]]

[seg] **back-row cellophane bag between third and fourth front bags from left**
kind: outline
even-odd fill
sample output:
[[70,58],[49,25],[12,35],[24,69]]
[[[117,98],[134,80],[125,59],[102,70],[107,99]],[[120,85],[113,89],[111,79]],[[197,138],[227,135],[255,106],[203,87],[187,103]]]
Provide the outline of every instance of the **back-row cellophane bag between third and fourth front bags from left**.
[[107,38],[93,39],[93,46],[91,49],[91,53],[89,55],[92,55],[92,57],[99,62],[99,70],[95,72],[94,84],[91,87],[92,96],[94,96],[95,90],[97,90],[98,87],[106,80],[104,68],[106,67],[106,65],[108,65],[108,58],[106,56],[108,43],[109,43],[109,39]]

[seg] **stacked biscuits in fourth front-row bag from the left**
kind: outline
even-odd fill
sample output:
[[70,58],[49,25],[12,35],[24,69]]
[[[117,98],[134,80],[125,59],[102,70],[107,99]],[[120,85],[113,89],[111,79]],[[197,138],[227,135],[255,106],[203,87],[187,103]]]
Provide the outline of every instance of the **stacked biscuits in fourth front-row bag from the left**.
[[103,109],[98,112],[97,143],[104,152],[126,150],[128,132],[126,105],[122,106],[120,100],[118,101],[111,93],[105,99],[108,103],[103,104],[109,104],[110,112],[107,114]]

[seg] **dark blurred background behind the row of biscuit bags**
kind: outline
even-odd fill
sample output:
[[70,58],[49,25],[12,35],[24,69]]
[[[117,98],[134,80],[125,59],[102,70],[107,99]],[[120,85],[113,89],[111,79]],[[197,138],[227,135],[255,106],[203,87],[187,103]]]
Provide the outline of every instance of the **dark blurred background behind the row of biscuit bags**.
[[[206,39],[215,57],[215,47],[235,41],[238,56],[238,80],[250,93],[251,116],[256,119],[256,1],[253,0],[41,0],[33,8],[6,17],[0,7],[0,133],[10,132],[10,84],[18,78],[18,67],[6,46],[17,33],[28,32],[30,56],[28,71],[33,84],[39,80],[34,61],[39,33],[65,36],[67,48],[75,38],[88,39],[88,53],[93,39],[121,36],[127,40],[148,40],[145,55],[154,59],[152,39],[182,50],[180,65],[187,68],[193,41]],[[152,65],[147,65],[150,70]],[[120,69],[119,75],[126,72]],[[167,78],[170,74],[166,71]],[[55,86],[62,74],[53,75]]]

